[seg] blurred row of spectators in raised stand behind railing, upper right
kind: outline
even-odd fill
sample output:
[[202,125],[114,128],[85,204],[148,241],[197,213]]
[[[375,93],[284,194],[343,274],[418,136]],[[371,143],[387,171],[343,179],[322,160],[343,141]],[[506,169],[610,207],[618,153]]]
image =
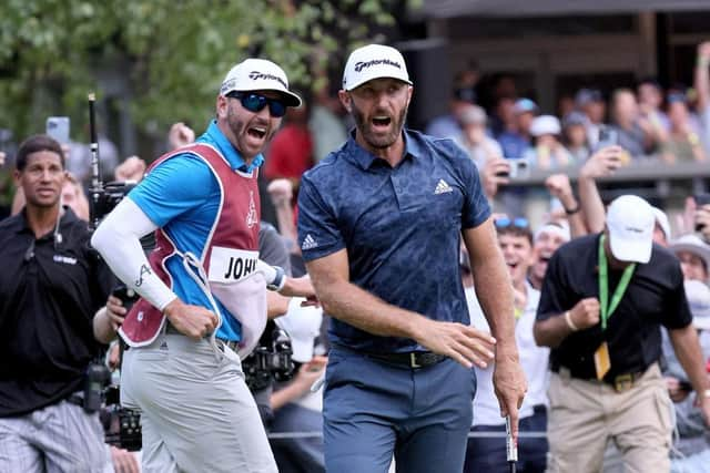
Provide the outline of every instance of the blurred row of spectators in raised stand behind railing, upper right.
[[[505,88],[493,90],[493,104],[485,111],[477,106],[477,84],[470,81],[477,75],[459,73],[449,112],[434,119],[426,133],[454,138],[469,150],[479,145],[473,150],[479,165],[504,157],[565,169],[581,165],[599,143],[623,147],[630,164],[652,156],[669,164],[704,162],[710,144],[709,58],[710,43],[703,43],[691,88],[663,88],[653,78],[642,79],[636,89],[601,91],[591,84],[576,91],[571,103],[560,106],[559,116],[542,113],[532,97],[518,96],[509,78]],[[477,135],[476,125],[483,125],[498,146]]]

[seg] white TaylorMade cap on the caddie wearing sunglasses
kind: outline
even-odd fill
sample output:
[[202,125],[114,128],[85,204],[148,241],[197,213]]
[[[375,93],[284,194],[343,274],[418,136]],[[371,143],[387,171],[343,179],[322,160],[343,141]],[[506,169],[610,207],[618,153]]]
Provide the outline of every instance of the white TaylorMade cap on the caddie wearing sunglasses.
[[283,69],[265,59],[245,59],[227,72],[220,95],[230,92],[276,91],[288,106],[301,106],[301,97],[288,90],[288,78]]

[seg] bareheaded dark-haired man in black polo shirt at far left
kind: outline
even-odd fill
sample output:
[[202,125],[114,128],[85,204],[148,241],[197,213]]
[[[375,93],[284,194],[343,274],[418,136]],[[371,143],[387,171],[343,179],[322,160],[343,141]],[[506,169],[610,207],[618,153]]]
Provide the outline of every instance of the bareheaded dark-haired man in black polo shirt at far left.
[[103,346],[92,318],[114,278],[60,204],[64,155],[31,136],[14,179],[26,206],[0,223],[0,471],[111,471],[99,421]]

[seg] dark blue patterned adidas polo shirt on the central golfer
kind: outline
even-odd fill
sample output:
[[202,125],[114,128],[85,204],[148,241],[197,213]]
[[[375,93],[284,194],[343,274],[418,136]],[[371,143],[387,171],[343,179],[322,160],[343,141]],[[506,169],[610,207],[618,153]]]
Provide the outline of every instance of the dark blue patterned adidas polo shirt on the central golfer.
[[[396,167],[353,135],[303,176],[298,243],[311,261],[347,249],[351,281],[383,300],[435,320],[468,325],[458,268],[462,228],[490,215],[478,171],[452,140],[405,131]],[[420,350],[414,340],[377,337],[333,319],[332,342],[356,350]]]

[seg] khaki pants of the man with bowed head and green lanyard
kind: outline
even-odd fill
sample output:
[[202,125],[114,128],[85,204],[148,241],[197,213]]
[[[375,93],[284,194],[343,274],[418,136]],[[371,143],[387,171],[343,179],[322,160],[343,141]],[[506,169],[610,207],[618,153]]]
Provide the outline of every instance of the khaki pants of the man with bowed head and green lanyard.
[[657,363],[625,392],[552,373],[548,395],[548,473],[601,472],[609,440],[621,452],[626,472],[670,471],[672,404]]

